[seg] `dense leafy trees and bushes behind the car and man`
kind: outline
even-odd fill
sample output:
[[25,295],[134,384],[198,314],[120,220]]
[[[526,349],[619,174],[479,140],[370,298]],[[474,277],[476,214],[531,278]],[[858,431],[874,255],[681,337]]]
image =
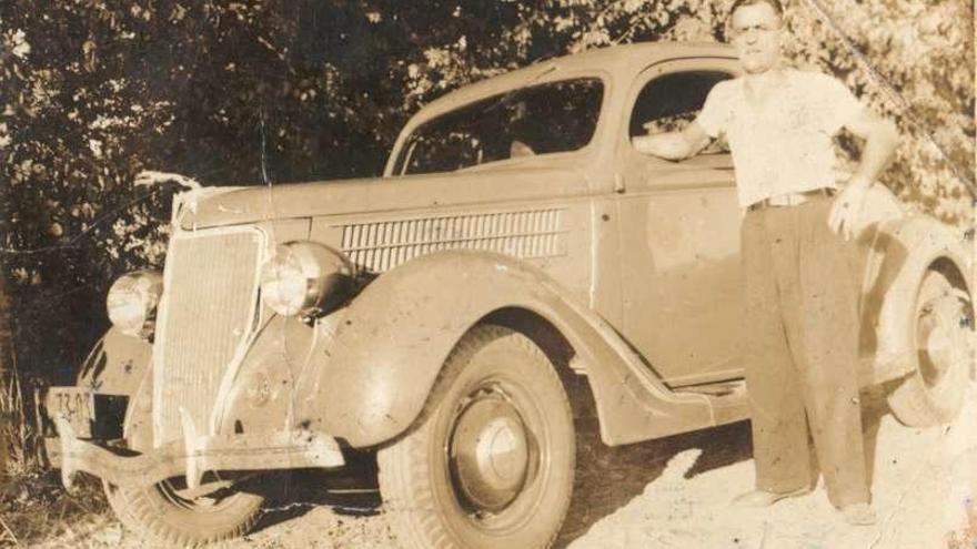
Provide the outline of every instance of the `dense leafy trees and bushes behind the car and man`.
[[[172,189],[134,186],[139,171],[209,185],[376,175],[400,126],[437,95],[591,48],[723,40],[728,4],[6,0],[0,279],[10,324],[0,374],[8,389],[14,373],[24,394],[70,383],[107,325],[108,285],[162,264]],[[897,121],[903,140],[884,183],[910,207],[970,226],[973,6],[785,4],[789,58],[837,75]]]

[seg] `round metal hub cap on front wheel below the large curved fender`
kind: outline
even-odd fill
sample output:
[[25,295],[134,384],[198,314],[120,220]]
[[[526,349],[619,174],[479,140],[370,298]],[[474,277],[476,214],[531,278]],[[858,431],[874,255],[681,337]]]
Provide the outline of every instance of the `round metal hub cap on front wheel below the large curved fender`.
[[522,490],[530,462],[525,426],[503,396],[476,396],[461,413],[451,441],[455,478],[477,510],[498,511]]

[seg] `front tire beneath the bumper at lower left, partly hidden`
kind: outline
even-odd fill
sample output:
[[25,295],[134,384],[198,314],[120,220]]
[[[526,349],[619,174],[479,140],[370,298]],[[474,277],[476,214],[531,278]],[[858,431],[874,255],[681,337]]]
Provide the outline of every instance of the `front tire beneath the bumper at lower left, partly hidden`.
[[163,547],[199,547],[236,538],[259,519],[264,497],[218,490],[212,497],[181,496],[180,479],[140,488],[103,484],[119,520],[138,536]]

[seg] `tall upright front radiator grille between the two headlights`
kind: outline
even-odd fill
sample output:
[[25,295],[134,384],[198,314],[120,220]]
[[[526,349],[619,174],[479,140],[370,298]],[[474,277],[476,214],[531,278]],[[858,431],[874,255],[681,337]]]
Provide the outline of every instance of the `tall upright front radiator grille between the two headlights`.
[[209,428],[224,373],[252,328],[261,243],[258,231],[173,242],[154,344],[158,445],[181,436],[181,406],[199,431]]

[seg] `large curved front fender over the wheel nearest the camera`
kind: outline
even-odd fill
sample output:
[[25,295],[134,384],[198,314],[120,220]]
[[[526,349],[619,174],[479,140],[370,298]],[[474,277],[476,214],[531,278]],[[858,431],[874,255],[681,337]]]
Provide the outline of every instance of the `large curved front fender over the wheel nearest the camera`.
[[[541,270],[508,256],[451,251],[410,261],[370,284],[322,348],[324,366],[299,380],[296,419],[354,447],[406,430],[441,366],[480,319],[517,307],[545,318],[573,346],[607,444],[713,425],[708,400],[677,395],[592,309]],[[653,420],[652,420],[653,419]]]

